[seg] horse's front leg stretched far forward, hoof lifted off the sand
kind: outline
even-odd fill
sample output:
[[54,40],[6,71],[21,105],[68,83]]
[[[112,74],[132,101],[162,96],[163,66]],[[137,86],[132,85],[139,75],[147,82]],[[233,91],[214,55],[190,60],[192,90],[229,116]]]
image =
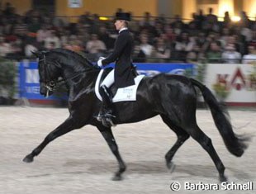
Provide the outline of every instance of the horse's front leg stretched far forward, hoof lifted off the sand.
[[55,130],[51,131],[50,134],[45,137],[45,140],[39,146],[37,146],[37,148],[34,149],[31,154],[26,155],[26,157],[23,159],[23,162],[33,162],[34,157],[40,154],[40,152],[45,148],[47,144],[49,144],[52,140],[55,140],[57,137],[64,135],[74,129],[76,129],[75,123],[72,117],[69,117],[66,121],[64,121],[64,123],[59,125]]

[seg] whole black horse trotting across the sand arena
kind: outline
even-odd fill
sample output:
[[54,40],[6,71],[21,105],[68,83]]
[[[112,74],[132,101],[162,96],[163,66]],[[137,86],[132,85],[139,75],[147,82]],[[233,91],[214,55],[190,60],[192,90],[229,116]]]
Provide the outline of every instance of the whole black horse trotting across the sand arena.
[[[82,55],[69,50],[56,49],[35,54],[39,58],[40,94],[45,96],[52,94],[52,89],[58,78],[63,78],[69,89],[70,115],[64,123],[50,132],[31,154],[26,155],[23,161],[31,163],[50,141],[59,136],[81,128],[83,125],[94,125],[102,133],[119,163],[119,169],[113,180],[121,180],[121,174],[125,172],[126,164],[121,159],[111,128],[102,125],[95,118],[102,105],[94,92],[96,78],[100,70],[90,64],[88,59]],[[211,144],[211,139],[197,125],[196,87],[201,90],[202,96],[210,106],[211,115],[225,146],[231,154],[240,157],[247,147],[245,139],[235,135],[230,121],[225,116],[225,111],[222,110],[211,91],[192,78],[164,73],[144,78],[138,88],[136,102],[114,104],[116,115],[114,122],[115,124],[132,123],[160,115],[164,123],[178,136],[176,143],[165,155],[167,167],[172,168],[171,161],[174,154],[191,136],[211,156],[218,170],[220,181],[223,182],[226,181],[225,167]]]

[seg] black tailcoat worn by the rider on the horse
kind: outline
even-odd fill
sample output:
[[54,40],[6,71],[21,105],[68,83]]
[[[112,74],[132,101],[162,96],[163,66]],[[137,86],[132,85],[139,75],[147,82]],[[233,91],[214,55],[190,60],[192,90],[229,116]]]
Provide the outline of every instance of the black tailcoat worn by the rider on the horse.
[[132,48],[133,38],[128,30],[123,30],[116,39],[112,54],[102,60],[103,65],[116,61],[115,85],[117,88],[125,88],[135,84],[131,63]]

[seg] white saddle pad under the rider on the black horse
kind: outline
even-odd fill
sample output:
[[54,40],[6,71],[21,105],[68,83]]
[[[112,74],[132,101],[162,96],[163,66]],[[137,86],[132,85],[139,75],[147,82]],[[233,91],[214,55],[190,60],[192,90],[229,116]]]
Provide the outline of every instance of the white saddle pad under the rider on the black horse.
[[[101,97],[98,89],[99,89],[100,80],[102,78],[103,71],[104,71],[104,69],[102,69],[100,71],[100,73],[98,74],[97,81],[95,84],[95,93],[96,93],[97,98],[100,101],[102,101],[102,97]],[[113,97],[113,99],[112,99],[112,102],[136,101],[137,88],[139,86],[140,81],[144,77],[145,77],[145,75],[138,75],[135,78],[135,85],[128,86],[126,88],[118,88],[115,97]]]

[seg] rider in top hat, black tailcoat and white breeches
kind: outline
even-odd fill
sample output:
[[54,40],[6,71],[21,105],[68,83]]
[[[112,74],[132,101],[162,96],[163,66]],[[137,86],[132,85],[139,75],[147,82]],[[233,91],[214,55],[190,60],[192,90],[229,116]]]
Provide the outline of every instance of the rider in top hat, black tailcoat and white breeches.
[[101,84],[99,92],[102,96],[102,110],[97,119],[107,119],[111,121],[113,116],[112,97],[109,88],[115,82],[117,88],[125,88],[134,85],[134,73],[132,73],[131,51],[133,47],[133,38],[128,31],[128,21],[130,21],[130,13],[116,12],[116,31],[119,35],[116,39],[113,52],[107,58],[100,58],[97,65],[102,67],[106,64],[116,61],[115,69],[107,75],[107,78]]

